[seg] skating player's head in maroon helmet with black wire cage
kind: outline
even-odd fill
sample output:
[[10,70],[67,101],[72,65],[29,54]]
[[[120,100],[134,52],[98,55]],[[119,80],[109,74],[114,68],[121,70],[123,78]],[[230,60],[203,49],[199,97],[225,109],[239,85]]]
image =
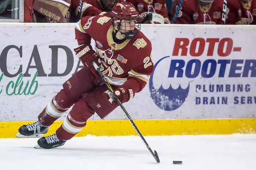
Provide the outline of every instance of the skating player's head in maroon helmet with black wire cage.
[[116,3],[110,11],[115,35],[119,31],[126,39],[131,39],[140,32],[140,16],[133,4]]

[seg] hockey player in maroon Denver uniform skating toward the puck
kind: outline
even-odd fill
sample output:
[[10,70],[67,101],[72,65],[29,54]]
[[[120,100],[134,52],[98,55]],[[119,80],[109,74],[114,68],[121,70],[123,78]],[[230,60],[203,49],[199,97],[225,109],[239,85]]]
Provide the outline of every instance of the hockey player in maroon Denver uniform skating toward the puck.
[[[74,49],[84,67],[63,84],[60,90],[33,124],[19,128],[17,137],[34,137],[45,134],[49,126],[71,106],[56,134],[37,141],[36,148],[55,148],[85,127],[94,114],[101,119],[112,112],[118,103],[126,103],[140,92],[153,72],[152,46],[140,31],[139,14],[133,4],[115,4],[111,17],[98,15],[82,18],[75,27],[79,47]],[[96,41],[95,51],[91,38]],[[111,93],[91,62],[96,61],[107,81],[115,89]]]

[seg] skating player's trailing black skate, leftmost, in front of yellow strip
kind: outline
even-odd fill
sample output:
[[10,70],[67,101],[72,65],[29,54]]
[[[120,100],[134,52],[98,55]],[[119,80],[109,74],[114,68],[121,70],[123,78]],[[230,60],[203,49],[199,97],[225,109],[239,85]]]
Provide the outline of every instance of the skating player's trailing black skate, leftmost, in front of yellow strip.
[[17,138],[40,138],[42,134],[47,133],[49,126],[43,126],[40,121],[32,124],[23,125],[19,128],[19,133],[16,134]]

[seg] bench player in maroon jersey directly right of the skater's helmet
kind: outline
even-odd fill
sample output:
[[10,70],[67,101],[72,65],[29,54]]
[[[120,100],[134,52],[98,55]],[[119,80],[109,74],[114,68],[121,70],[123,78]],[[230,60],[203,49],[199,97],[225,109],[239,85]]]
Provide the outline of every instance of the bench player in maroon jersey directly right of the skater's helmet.
[[[145,18],[148,13],[158,13],[164,17],[164,23],[170,24],[168,12],[166,8],[166,0],[126,0],[132,3],[137,11],[140,13],[141,20]],[[153,23],[148,21],[146,23]]]

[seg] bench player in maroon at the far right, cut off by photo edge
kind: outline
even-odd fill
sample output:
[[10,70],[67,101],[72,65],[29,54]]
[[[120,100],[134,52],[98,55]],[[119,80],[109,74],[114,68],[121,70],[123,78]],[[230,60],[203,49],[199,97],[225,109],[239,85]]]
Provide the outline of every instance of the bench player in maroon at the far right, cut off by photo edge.
[[226,24],[256,24],[256,0],[229,0]]

